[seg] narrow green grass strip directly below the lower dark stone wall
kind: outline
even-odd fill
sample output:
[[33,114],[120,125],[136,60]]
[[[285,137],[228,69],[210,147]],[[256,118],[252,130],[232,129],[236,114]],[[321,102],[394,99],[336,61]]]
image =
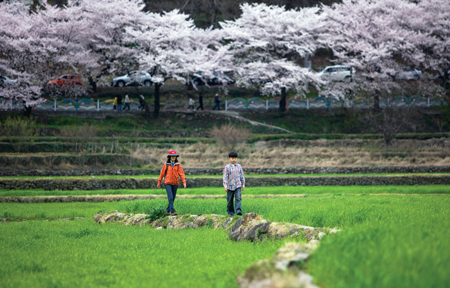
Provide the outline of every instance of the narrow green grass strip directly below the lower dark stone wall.
[[[243,195],[279,195],[279,194],[450,194],[450,185],[421,186],[276,186],[247,187]],[[46,191],[42,189],[7,190],[0,189],[0,197],[6,196],[78,196],[78,195],[166,195],[164,189],[121,189],[121,190],[77,190]],[[224,195],[219,187],[179,188],[177,195]]]

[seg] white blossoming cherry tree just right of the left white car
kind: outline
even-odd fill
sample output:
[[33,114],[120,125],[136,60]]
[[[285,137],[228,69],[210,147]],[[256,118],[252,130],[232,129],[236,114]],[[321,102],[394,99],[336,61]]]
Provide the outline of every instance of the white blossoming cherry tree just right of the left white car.
[[144,25],[127,30],[129,43],[136,43],[139,64],[150,72],[155,86],[154,115],[159,114],[160,88],[169,79],[189,82],[198,71],[221,70],[224,55],[216,31],[198,29],[189,16],[178,10],[148,13]]

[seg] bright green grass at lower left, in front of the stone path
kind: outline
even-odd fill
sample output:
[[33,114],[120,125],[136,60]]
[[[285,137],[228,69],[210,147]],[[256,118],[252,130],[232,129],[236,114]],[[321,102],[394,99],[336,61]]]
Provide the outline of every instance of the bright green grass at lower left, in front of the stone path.
[[2,287],[238,287],[236,277],[279,242],[227,232],[100,226],[92,220],[2,226]]

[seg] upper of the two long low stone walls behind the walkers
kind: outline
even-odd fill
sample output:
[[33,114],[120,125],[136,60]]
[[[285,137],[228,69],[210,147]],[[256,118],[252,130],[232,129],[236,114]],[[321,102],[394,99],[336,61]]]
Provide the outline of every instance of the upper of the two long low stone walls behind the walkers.
[[[113,155],[114,158],[116,157]],[[117,158],[117,157],[116,157]],[[107,159],[114,160],[114,159]],[[126,161],[127,159],[119,159]],[[118,160],[118,161],[119,161]],[[222,175],[223,168],[183,168],[186,175]],[[244,168],[246,174],[353,174],[353,173],[444,173],[450,166],[386,166],[386,167],[283,167]],[[159,169],[98,170],[0,170],[2,176],[97,176],[97,175],[159,175]]]

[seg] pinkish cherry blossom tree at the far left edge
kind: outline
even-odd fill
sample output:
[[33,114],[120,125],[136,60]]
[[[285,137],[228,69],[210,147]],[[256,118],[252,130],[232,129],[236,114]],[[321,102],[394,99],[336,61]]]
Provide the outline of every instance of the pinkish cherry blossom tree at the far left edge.
[[0,96],[23,103],[28,115],[43,100],[42,88],[52,71],[91,61],[82,46],[56,33],[57,24],[67,20],[64,15],[54,17],[57,8],[45,2],[41,8],[30,13],[20,2],[0,3],[0,73],[18,79],[17,85],[2,89]]

